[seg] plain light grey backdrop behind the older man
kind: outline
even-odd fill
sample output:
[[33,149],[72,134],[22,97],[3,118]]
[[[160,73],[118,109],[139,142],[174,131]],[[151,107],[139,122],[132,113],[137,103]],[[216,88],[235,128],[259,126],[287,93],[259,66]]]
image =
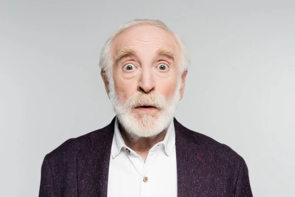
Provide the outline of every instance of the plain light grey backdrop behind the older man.
[[135,18],[160,19],[187,43],[176,118],[240,154],[254,196],[293,196],[292,0],[1,0],[0,196],[37,196],[44,156],[110,123],[99,52]]

